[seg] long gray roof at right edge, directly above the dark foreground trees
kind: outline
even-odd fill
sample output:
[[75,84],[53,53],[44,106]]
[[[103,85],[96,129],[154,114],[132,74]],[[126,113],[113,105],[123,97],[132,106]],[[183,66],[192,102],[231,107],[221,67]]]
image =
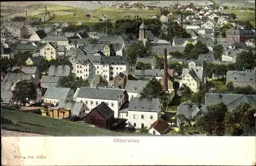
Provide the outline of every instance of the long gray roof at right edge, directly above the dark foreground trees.
[[219,93],[206,93],[205,104],[212,105],[223,102],[227,105],[228,110],[237,107],[241,102],[248,102],[256,106],[256,95],[243,95],[243,94],[219,94]]

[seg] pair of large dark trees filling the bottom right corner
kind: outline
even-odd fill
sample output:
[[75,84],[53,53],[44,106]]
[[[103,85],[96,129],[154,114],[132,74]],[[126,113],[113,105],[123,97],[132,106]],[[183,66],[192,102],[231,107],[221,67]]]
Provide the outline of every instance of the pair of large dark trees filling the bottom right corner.
[[254,136],[256,107],[240,103],[233,110],[227,110],[224,103],[210,105],[207,114],[197,124],[207,135]]

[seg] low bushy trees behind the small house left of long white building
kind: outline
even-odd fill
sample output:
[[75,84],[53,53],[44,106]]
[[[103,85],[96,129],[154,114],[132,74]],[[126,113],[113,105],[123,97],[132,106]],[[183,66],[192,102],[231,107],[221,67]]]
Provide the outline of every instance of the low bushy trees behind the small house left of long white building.
[[58,87],[71,88],[76,91],[80,87],[89,87],[90,83],[85,79],[76,79],[76,77],[69,75],[60,77]]

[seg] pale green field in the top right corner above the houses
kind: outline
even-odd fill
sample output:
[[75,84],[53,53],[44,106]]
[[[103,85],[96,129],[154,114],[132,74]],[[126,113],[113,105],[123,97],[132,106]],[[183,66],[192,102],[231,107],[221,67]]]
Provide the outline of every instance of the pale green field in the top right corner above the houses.
[[225,10],[226,12],[234,13],[238,17],[240,17],[242,20],[250,21],[252,25],[255,26],[255,11],[247,11],[244,10],[243,12],[241,10]]

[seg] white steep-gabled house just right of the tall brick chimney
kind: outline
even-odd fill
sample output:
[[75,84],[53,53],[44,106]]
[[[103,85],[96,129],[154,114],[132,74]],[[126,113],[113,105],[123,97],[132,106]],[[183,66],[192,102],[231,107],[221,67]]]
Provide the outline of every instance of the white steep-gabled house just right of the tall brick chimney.
[[191,91],[198,92],[204,79],[203,70],[184,68],[182,71],[180,88],[185,85],[186,87],[189,87]]

